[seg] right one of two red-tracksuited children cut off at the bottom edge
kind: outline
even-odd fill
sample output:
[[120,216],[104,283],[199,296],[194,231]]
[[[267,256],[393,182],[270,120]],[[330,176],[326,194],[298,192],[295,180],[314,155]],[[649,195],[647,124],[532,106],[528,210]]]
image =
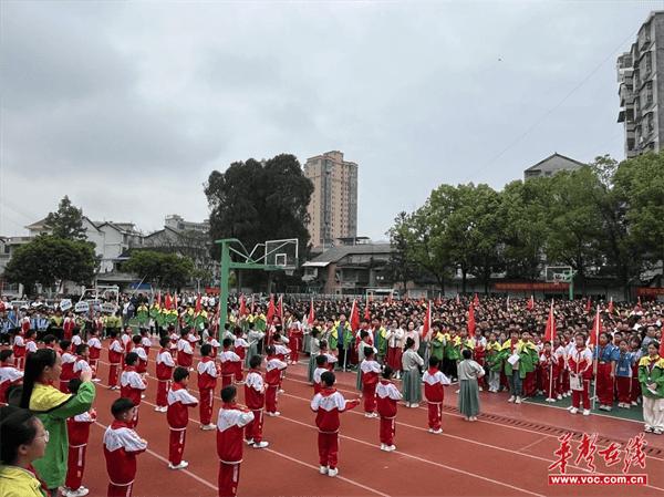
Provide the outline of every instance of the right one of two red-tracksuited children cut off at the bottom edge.
[[242,433],[253,421],[253,413],[236,404],[234,385],[221,389],[221,408],[217,417],[217,456],[219,457],[219,497],[235,497],[240,482]]

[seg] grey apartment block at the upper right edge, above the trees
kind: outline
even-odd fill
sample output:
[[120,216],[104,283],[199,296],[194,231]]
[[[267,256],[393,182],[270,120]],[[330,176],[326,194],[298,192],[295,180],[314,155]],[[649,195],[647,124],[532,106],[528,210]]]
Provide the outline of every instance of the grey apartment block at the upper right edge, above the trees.
[[664,11],[651,12],[629,52],[618,58],[620,112],[625,156],[660,152],[664,139]]

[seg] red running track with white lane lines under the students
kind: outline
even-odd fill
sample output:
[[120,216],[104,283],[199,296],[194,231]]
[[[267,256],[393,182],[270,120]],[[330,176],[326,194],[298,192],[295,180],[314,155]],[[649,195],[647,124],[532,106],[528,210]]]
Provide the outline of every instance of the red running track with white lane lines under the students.
[[[153,351],[154,355],[154,351]],[[154,362],[147,397],[141,406],[138,433],[148,441],[148,453],[139,456],[134,496],[215,496],[217,482],[216,433],[200,431],[198,410],[190,411],[185,459],[189,467],[170,470],[166,466],[168,425],[166,415],[156,413],[154,400],[156,380]],[[305,383],[305,369],[290,366],[284,382],[286,393],[279,397],[280,417],[266,417],[266,449],[245,448],[239,496],[664,496],[664,458],[647,457],[647,487],[641,486],[549,486],[548,467],[556,460],[557,436],[535,429],[501,424],[495,421],[467,423],[456,414],[444,414],[443,435],[426,429],[426,411],[400,406],[397,414],[397,451],[380,451],[378,422],[363,416],[361,408],[342,415],[340,439],[340,475],[336,478],[318,473],[317,431],[314,414],[309,407],[313,394]],[[352,398],[354,374],[339,374],[340,390]],[[100,377],[107,379],[107,365],[100,364]],[[190,384],[196,385],[193,373]],[[111,422],[110,406],[117,398],[103,383],[97,384],[95,407],[98,423],[91,431],[87,467],[83,484],[93,496],[104,496],[107,477],[102,451],[102,436]],[[195,387],[190,391],[197,395]],[[240,400],[243,386],[239,385]],[[453,387],[447,389],[446,404],[456,401]],[[483,402],[485,395],[483,395]],[[488,403],[490,404],[490,402]],[[484,406],[485,404],[483,404]],[[215,417],[219,406],[218,389]],[[556,410],[540,406],[543,413]],[[591,416],[591,418],[594,416]],[[588,418],[578,423],[587,423]],[[602,421],[608,423],[606,421]],[[613,422],[613,421],[612,421]],[[546,423],[546,420],[542,421]],[[616,422],[626,423],[626,422]],[[630,429],[637,433],[633,426]],[[575,447],[578,444],[573,443]],[[600,447],[599,449],[601,449]],[[595,458],[598,473],[620,473],[603,467]],[[620,466],[620,465],[619,465]],[[570,462],[568,474],[589,474],[582,462]]]

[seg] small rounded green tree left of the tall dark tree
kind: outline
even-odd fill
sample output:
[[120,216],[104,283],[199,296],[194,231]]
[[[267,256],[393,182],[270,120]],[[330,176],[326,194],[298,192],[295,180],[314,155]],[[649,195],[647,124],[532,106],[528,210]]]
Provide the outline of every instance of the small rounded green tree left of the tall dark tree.
[[177,253],[154,250],[134,250],[123,269],[136,273],[141,279],[155,283],[157,288],[179,291],[195,273],[194,261]]

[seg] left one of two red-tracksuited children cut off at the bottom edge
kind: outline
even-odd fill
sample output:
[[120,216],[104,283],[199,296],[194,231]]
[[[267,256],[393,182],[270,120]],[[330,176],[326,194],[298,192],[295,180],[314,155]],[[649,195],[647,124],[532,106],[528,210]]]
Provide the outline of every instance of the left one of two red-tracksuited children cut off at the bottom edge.
[[108,473],[107,497],[132,497],[136,478],[136,456],[147,448],[147,442],[132,428],[134,403],[121,397],[111,406],[115,421],[104,433],[104,456]]

